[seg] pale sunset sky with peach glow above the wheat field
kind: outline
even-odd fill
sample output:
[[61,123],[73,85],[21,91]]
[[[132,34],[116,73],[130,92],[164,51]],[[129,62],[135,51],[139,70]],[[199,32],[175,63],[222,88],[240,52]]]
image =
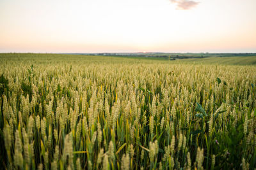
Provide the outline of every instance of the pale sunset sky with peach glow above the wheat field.
[[1,0],[0,52],[256,52],[255,0]]

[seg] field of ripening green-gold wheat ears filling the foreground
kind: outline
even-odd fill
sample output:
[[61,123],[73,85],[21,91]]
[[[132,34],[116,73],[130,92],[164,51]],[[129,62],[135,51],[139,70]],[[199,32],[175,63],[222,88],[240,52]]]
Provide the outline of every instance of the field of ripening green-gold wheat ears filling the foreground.
[[256,67],[0,54],[3,169],[255,169]]

